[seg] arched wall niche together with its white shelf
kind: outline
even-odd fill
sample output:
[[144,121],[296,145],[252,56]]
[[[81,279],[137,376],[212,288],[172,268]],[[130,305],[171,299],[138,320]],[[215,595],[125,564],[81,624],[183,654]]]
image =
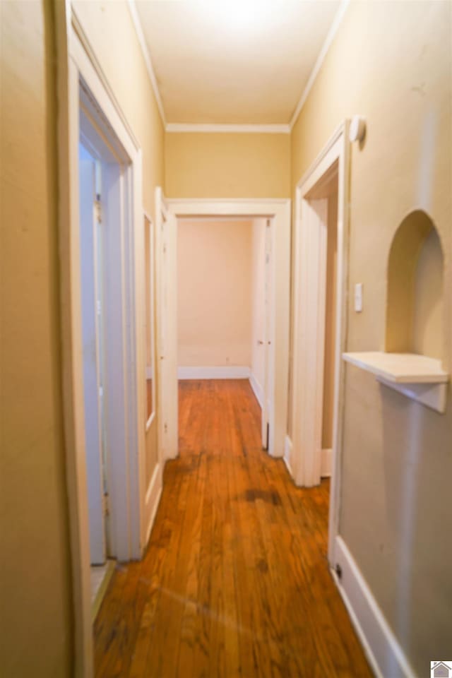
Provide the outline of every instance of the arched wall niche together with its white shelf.
[[439,234],[429,215],[415,210],[401,222],[389,251],[385,350],[343,355],[438,412],[446,409],[449,379],[442,367],[443,277]]

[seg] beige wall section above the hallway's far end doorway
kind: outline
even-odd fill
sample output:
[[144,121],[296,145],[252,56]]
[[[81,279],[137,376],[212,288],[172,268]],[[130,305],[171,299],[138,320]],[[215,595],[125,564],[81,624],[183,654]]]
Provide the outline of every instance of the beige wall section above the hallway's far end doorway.
[[289,198],[290,136],[167,133],[169,198]]

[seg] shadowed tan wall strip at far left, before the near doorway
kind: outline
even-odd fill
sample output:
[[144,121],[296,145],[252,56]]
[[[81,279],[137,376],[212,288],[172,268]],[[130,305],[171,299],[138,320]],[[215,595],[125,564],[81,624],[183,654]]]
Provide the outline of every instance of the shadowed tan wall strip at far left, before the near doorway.
[[54,23],[1,2],[0,674],[69,677]]

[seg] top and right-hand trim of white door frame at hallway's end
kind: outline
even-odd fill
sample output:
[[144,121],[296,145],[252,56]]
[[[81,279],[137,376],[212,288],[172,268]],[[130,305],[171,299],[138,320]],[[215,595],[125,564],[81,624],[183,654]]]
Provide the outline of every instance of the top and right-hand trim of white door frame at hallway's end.
[[[289,323],[290,323],[290,200],[266,199],[176,199],[167,200],[169,210],[178,218],[203,216],[267,217],[272,220],[273,237],[273,285],[270,322],[270,359],[273,385],[269,412],[270,436],[268,452],[271,456],[284,454],[287,422],[287,386],[289,371]],[[176,277],[173,276],[176,285]],[[176,365],[177,369],[177,365]]]

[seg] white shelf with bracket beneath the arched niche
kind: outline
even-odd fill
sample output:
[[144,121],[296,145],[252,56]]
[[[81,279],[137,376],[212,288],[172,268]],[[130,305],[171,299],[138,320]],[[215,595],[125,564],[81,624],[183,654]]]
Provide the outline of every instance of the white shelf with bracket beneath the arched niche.
[[441,360],[415,353],[343,353],[343,359],[376,376],[385,386],[422,405],[444,412],[449,375]]

